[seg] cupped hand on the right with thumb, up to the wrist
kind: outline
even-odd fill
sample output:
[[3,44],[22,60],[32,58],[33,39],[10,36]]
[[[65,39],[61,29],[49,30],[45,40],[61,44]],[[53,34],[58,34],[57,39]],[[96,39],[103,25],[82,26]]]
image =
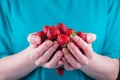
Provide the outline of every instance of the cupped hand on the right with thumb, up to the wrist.
[[[62,49],[64,57],[64,68],[67,70],[80,69],[82,66],[87,65],[93,57],[92,42],[96,40],[96,35],[92,33],[86,34],[86,42],[80,37],[74,36],[73,40],[82,50],[80,51],[74,43],[68,44],[68,49]],[[74,57],[73,57],[74,56]]]

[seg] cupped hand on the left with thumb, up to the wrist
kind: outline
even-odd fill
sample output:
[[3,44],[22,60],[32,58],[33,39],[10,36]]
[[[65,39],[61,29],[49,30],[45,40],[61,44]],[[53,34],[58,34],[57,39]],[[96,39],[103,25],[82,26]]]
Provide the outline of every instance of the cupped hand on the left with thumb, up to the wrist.
[[28,41],[30,42],[31,49],[33,49],[30,54],[30,59],[34,60],[37,66],[57,68],[63,65],[63,62],[60,60],[63,56],[62,51],[57,51],[55,53],[58,48],[58,43],[56,41],[52,42],[47,40],[39,45],[41,43],[41,38],[35,35],[35,33],[28,36]]

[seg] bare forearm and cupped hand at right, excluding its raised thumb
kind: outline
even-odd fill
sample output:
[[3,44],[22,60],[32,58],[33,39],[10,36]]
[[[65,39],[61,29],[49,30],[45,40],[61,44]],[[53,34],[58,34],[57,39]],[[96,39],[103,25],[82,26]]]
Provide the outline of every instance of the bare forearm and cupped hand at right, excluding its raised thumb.
[[[116,80],[119,71],[118,59],[102,56],[93,51],[91,43],[87,44],[80,37],[74,36],[73,40],[84,51],[70,42],[62,51],[67,70],[80,69],[87,75],[97,80]],[[73,57],[74,56],[74,57]]]

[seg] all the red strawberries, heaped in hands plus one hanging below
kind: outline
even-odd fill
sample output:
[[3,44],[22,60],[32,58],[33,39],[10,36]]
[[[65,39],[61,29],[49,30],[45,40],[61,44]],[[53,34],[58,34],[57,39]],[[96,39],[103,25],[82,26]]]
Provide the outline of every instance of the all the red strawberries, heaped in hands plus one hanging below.
[[[66,27],[63,23],[58,23],[56,26],[44,26],[43,31],[37,32],[36,35],[41,37],[41,44],[48,39],[57,41],[59,43],[58,50],[67,47],[67,44],[72,41],[72,37],[75,35],[78,35],[85,41],[85,34],[83,32],[75,32],[73,29]],[[64,68],[62,67],[56,70],[59,75],[62,75],[64,72]]]

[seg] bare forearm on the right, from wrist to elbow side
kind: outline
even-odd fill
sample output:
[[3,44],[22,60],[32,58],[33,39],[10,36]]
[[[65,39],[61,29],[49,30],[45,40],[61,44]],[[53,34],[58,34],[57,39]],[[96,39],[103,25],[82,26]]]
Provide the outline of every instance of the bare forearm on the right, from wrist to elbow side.
[[89,64],[82,67],[82,71],[99,80],[115,80],[118,75],[118,60],[94,54]]

